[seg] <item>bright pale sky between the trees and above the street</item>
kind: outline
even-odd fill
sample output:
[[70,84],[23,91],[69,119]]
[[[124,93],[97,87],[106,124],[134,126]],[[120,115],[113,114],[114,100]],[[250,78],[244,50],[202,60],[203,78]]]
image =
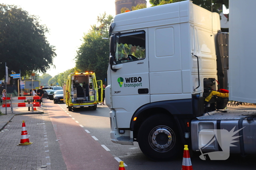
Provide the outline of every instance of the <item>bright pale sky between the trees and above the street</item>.
[[[97,16],[104,12],[116,14],[115,0],[0,0],[0,3],[16,5],[29,15],[38,16],[40,24],[49,29],[46,37],[57,54],[53,60],[56,68],[46,72],[51,76],[75,67],[76,51],[83,43],[84,33],[97,24]],[[147,6],[151,6],[149,0]]]

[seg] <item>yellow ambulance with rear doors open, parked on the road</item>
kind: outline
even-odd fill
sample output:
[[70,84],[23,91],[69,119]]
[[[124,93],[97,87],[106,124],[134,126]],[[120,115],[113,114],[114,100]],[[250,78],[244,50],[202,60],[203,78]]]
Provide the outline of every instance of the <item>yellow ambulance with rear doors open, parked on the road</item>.
[[75,107],[91,107],[97,109],[97,103],[102,102],[102,80],[96,80],[94,72],[75,72],[68,75],[67,84],[63,90],[64,102],[68,111]]

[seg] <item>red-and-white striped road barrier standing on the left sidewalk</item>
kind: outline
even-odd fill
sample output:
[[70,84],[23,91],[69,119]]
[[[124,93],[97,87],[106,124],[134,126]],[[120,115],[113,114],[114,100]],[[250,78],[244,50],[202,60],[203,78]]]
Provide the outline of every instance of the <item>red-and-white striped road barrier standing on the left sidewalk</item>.
[[[23,97],[2,97],[2,100],[11,100],[11,103],[4,103],[2,107],[11,107],[11,111],[13,112],[13,107],[32,107],[32,111],[34,111],[33,107],[41,107],[39,102],[30,103],[30,100],[41,100],[40,96],[23,96]],[[12,103],[12,100],[28,100],[28,103]]]

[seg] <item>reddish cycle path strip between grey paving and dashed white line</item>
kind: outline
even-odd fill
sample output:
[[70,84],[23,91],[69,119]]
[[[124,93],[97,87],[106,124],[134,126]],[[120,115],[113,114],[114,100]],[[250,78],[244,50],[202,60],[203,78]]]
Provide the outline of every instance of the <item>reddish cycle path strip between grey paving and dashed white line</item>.
[[119,163],[57,104],[45,102],[68,170],[117,170]]

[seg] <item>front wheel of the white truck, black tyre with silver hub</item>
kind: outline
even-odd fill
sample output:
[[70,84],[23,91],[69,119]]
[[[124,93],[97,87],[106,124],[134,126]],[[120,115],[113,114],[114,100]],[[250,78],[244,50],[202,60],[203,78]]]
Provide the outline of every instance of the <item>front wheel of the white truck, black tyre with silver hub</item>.
[[140,150],[154,161],[166,161],[182,155],[176,124],[170,116],[157,114],[147,118],[138,133]]

